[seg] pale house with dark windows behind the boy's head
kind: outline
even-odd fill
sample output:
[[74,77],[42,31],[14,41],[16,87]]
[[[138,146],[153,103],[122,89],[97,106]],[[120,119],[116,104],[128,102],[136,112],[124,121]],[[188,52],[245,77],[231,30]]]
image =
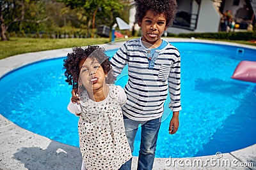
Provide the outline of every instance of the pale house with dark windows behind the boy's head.
[[[218,32],[221,17],[227,10],[239,29],[247,29],[255,23],[256,0],[177,0],[179,8],[172,27],[167,32],[179,34],[189,32]],[[130,10],[129,25],[139,30],[134,23],[134,2]]]

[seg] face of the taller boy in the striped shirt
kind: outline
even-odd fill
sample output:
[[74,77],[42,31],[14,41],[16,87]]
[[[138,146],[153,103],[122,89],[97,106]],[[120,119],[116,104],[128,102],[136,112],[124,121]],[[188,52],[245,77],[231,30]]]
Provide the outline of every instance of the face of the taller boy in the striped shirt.
[[154,15],[154,11],[149,10],[138,24],[141,27],[143,41],[156,47],[161,45],[161,36],[167,29],[163,13]]

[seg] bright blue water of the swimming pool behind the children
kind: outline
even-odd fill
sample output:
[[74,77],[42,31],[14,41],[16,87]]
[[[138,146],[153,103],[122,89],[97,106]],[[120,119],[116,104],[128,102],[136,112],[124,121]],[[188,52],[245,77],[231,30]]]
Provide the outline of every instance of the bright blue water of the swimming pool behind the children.
[[[172,44],[179,48],[182,60],[180,127],[176,134],[168,134],[171,115],[166,104],[156,157],[213,155],[255,144],[256,83],[230,76],[241,60],[255,61],[256,50]],[[63,59],[36,62],[1,78],[0,113],[24,129],[79,146],[78,118],[67,111],[71,87],[65,82]],[[125,85],[126,73],[127,68],[117,84]],[[139,135],[134,144],[133,155],[138,155]]]

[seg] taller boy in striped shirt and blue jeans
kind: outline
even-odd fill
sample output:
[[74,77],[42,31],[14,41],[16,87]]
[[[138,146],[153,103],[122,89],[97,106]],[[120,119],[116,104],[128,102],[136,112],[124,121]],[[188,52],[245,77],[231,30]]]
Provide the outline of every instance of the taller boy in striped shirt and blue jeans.
[[[161,39],[173,22],[177,3],[175,0],[137,0],[135,6],[142,38],[127,41],[111,59],[111,66],[118,76],[128,64],[129,80],[124,88],[127,103],[122,107],[125,131],[133,152],[134,138],[141,124],[138,169],[152,169],[168,89],[169,107],[173,111],[168,131],[175,134],[179,127],[180,53]],[[131,160],[121,169],[131,169]]]

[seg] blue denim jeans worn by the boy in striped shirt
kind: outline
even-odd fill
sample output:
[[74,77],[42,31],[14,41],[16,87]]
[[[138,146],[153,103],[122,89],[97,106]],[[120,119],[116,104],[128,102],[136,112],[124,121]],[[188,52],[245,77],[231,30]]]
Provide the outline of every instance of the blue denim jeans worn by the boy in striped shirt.
[[[151,170],[154,164],[156,141],[161,125],[161,117],[148,121],[131,120],[124,116],[124,125],[126,136],[133,152],[134,138],[138,131],[138,126],[141,124],[141,143],[138,159],[138,170]],[[125,162],[120,170],[131,170],[132,159]]]

